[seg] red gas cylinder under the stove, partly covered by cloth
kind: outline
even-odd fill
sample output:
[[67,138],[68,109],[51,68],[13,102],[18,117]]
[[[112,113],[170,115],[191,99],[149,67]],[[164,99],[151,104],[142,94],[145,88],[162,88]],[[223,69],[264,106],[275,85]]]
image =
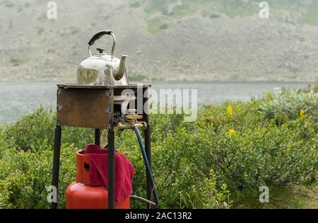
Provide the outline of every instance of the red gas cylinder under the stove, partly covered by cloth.
[[[90,157],[83,151],[76,153],[76,182],[66,189],[66,209],[107,209],[108,191],[105,186],[89,185]],[[130,199],[126,198],[114,206],[115,209],[129,209]]]

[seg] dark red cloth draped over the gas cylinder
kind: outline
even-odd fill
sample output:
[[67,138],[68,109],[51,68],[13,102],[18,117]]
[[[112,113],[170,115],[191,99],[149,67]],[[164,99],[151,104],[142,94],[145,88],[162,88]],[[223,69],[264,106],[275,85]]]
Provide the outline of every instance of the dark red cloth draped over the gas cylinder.
[[[84,154],[90,156],[90,185],[107,187],[107,149],[91,144],[86,147]],[[134,178],[134,165],[123,154],[115,151],[114,171],[114,202],[118,204],[132,194],[131,183]]]

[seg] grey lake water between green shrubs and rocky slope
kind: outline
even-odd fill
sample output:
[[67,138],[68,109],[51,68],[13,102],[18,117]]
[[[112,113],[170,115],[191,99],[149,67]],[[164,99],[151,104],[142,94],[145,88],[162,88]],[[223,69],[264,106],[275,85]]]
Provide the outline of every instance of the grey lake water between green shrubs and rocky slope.
[[[265,91],[279,91],[281,88],[304,88],[307,83],[291,82],[206,82],[178,83],[154,82],[153,89],[197,89],[199,105],[223,101],[249,101],[259,98]],[[14,122],[22,115],[32,113],[43,105],[56,107],[55,83],[1,83],[0,82],[0,123]],[[159,94],[159,93],[158,93]]]

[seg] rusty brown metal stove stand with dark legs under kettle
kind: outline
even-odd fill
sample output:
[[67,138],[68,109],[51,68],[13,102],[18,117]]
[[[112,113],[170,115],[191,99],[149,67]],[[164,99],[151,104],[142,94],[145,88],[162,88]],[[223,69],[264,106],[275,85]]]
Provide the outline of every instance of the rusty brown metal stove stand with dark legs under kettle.
[[[144,85],[144,93],[150,85]],[[110,88],[107,86],[76,86],[70,84],[59,84],[57,90],[57,127],[54,132],[54,156],[52,167],[52,186],[59,188],[59,164],[61,153],[61,131],[62,126],[90,127],[95,129],[95,144],[100,145],[101,129],[108,131],[108,208],[114,208],[114,92],[121,92],[129,88],[135,92],[137,86],[119,86]],[[119,94],[120,95],[120,94]],[[137,96],[138,97],[138,96]],[[147,103],[148,96],[143,98],[143,103]],[[98,109],[96,109],[98,108]],[[106,112],[105,112],[106,111]],[[83,119],[85,117],[85,119]],[[143,119],[148,127],[144,131],[145,149],[148,161],[151,164],[151,130],[149,125],[148,112],[143,111]],[[153,195],[150,177],[146,175],[147,198],[151,200]],[[56,197],[56,198],[57,198]],[[150,206],[149,206],[150,207]],[[57,208],[57,202],[51,203],[51,208]]]

